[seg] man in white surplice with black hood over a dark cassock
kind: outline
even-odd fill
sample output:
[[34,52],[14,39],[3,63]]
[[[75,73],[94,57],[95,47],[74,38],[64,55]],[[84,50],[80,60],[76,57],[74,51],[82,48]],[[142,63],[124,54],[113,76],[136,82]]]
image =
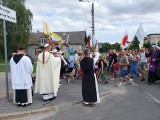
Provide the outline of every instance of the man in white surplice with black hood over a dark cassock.
[[18,47],[17,54],[10,59],[13,102],[17,106],[25,107],[32,103],[33,65],[28,56],[25,56],[23,46]]

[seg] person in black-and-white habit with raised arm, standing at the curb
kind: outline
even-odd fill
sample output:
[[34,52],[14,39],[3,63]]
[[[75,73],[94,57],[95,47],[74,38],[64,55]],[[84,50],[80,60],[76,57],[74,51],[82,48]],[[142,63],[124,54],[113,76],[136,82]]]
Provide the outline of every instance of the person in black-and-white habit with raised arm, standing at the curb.
[[95,53],[95,57],[90,57],[90,50],[85,49],[84,58],[80,62],[83,71],[82,76],[82,97],[83,105],[90,105],[93,107],[95,103],[100,103],[98,85],[96,75],[94,73],[94,65],[99,59],[99,52]]

